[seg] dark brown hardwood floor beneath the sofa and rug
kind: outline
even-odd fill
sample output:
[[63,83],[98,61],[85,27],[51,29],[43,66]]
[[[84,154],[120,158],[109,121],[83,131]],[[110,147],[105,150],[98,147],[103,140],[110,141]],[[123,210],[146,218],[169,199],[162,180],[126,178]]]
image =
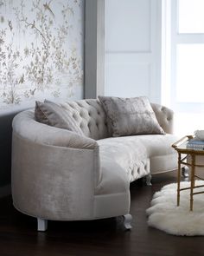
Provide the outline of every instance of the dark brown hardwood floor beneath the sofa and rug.
[[204,237],[176,237],[147,226],[145,209],[152,194],[171,182],[175,173],[155,175],[152,187],[131,184],[131,232],[124,231],[120,218],[112,218],[48,221],[48,231],[38,233],[36,220],[17,212],[11,197],[0,199],[0,255],[204,255]]

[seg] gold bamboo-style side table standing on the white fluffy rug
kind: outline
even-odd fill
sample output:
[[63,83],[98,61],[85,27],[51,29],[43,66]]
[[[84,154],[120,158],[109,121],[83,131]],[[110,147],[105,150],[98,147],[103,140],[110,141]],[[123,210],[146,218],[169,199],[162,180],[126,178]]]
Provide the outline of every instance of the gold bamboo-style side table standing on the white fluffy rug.
[[[190,139],[193,139],[193,136],[188,135],[183,137],[181,140],[176,141],[172,147],[175,148],[175,150],[178,153],[178,173],[177,173],[177,206],[180,205],[180,192],[182,190],[190,189],[190,211],[193,211],[194,207],[194,194],[204,194],[204,192],[194,192],[194,188],[198,187],[204,187],[204,185],[201,186],[194,186],[194,179],[198,178],[201,179],[201,177],[197,176],[195,174],[195,167],[204,167],[203,165],[196,164],[196,156],[203,155],[203,162],[204,162],[204,150],[201,149],[194,149],[194,148],[187,148],[187,143]],[[183,156],[184,154],[184,156]],[[186,161],[187,158],[191,161]],[[181,188],[180,187],[180,181],[181,181],[181,166],[185,165],[190,168],[190,187]]]

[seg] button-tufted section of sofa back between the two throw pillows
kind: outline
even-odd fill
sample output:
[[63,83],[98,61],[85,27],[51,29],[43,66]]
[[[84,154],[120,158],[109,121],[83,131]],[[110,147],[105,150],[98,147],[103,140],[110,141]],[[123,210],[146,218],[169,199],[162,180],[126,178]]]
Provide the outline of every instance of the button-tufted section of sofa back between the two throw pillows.
[[69,110],[87,137],[99,140],[111,136],[107,128],[105,111],[98,99],[66,102],[61,103],[61,106]]

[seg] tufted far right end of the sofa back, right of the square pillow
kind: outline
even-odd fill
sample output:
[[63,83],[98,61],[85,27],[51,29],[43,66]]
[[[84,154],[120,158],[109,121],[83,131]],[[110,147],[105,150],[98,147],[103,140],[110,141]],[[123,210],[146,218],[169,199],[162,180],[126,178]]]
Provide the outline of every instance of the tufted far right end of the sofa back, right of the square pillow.
[[151,107],[153,108],[156,119],[164,132],[167,134],[173,134],[174,111],[156,103],[151,103]]

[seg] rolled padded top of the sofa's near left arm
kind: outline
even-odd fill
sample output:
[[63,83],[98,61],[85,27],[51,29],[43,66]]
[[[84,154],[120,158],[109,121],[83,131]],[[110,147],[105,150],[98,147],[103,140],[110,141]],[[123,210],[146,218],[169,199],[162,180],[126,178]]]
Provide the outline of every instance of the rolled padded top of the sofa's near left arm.
[[99,147],[97,141],[91,138],[35,121],[33,110],[22,111],[17,114],[12,126],[17,135],[40,144],[67,148],[93,149]]

